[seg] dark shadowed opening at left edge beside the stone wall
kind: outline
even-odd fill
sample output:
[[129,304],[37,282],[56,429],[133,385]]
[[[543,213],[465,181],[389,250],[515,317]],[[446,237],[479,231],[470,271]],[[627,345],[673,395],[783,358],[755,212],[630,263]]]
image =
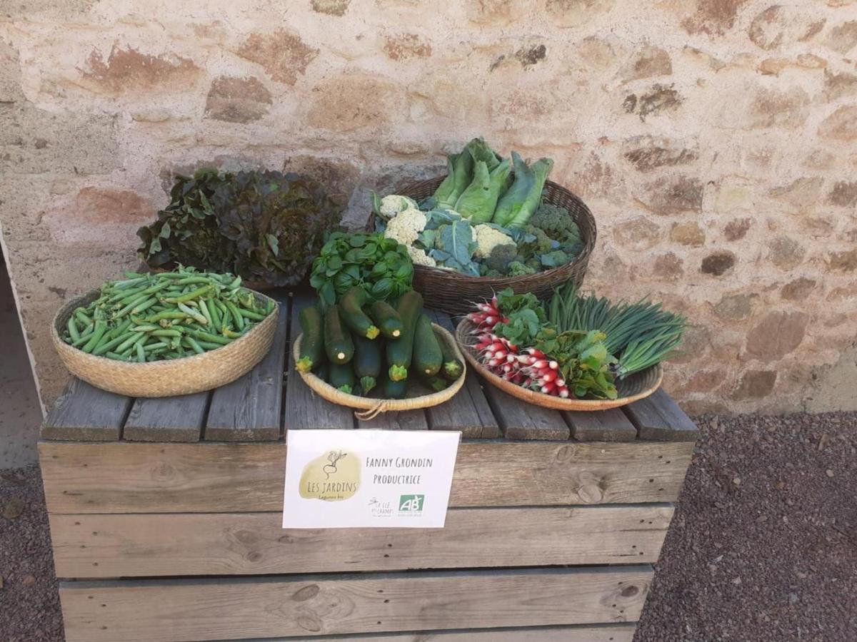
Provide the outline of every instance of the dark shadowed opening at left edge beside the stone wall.
[[36,461],[42,411],[2,254],[0,336],[5,337],[0,359],[0,469],[18,468]]

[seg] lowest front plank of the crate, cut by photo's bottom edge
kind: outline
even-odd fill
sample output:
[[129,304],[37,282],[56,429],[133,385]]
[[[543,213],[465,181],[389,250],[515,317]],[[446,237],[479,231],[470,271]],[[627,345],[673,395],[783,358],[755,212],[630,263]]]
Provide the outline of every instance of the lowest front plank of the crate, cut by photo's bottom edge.
[[[632,642],[634,623],[572,625],[569,627],[503,627],[458,631],[411,631],[409,633],[357,633],[351,635],[314,635],[311,638],[256,638],[250,642]],[[226,640],[226,642],[237,642]]]

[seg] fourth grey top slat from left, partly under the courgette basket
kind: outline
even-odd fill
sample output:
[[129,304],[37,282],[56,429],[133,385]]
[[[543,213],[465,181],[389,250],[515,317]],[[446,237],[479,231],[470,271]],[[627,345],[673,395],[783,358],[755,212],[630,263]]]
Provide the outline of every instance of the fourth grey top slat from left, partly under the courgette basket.
[[291,303],[291,342],[289,345],[288,381],[285,387],[285,430],[305,429],[350,430],[354,428],[354,411],[338,406],[316,395],[295,370],[292,345],[301,334],[298,312],[313,303],[308,294],[296,294]]

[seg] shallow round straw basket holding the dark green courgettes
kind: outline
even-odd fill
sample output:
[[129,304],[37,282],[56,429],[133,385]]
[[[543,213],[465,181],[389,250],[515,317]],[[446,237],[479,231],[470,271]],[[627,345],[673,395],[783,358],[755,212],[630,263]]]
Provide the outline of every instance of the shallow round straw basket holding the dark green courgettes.
[[[438,341],[445,342],[447,346],[452,348],[458,357],[458,360],[460,360],[462,366],[464,366],[464,357],[461,354],[461,350],[458,349],[458,345],[456,345],[455,338],[452,334],[448,330],[441,328],[438,324],[432,324],[432,328],[434,329],[434,334],[437,336]],[[292,347],[296,362],[300,359],[302,339],[303,334],[297,336],[295,344]],[[458,390],[461,389],[461,386],[464,385],[464,376],[467,374],[467,366],[464,366],[464,370],[461,372],[461,376],[458,377],[458,379],[450,383],[445,389],[440,390],[440,392],[428,392],[428,389],[425,389],[422,386],[411,387],[409,385],[408,396],[406,396],[405,399],[376,399],[373,397],[349,395],[348,393],[333,388],[330,383],[316,377],[312,372],[298,372],[298,374],[303,379],[303,383],[306,383],[309,388],[315,392],[315,394],[321,396],[323,399],[327,399],[327,401],[330,401],[331,403],[339,404],[339,406],[347,406],[362,410],[362,413],[355,412],[354,415],[357,419],[369,420],[374,419],[380,413],[389,413],[396,410],[417,410],[417,408],[429,408],[452,399],[455,393],[457,393]]]

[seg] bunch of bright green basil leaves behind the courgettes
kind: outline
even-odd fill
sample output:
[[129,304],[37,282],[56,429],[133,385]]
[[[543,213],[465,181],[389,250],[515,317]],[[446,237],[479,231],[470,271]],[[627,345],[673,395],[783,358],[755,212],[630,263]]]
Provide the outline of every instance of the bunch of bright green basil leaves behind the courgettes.
[[375,300],[395,300],[411,289],[414,266],[404,245],[380,233],[333,232],[313,261],[309,284],[325,306],[358,285]]

